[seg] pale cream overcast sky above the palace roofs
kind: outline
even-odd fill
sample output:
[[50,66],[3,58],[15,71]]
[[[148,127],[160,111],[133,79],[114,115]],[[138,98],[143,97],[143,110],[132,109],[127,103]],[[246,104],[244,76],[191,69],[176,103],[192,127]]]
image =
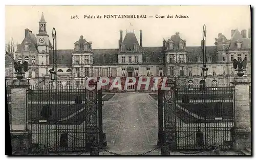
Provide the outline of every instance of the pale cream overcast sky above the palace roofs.
[[[21,43],[25,29],[38,33],[38,21],[44,12],[47,32],[52,41],[52,28],[57,33],[57,49],[73,49],[80,35],[92,41],[93,49],[118,48],[119,30],[135,30],[139,41],[139,30],[143,33],[144,47],[158,47],[163,38],[176,32],[186,40],[187,46],[201,45],[203,25],[206,25],[206,45],[214,45],[218,33],[228,39],[231,29],[250,28],[249,6],[6,6],[5,39]],[[98,19],[97,15],[146,14],[146,19]],[[165,18],[155,18],[155,15]],[[189,18],[166,18],[167,15],[188,15]],[[71,16],[79,19],[71,19]],[[84,15],[96,16],[84,19]],[[149,18],[148,16],[154,16]],[[130,23],[133,28],[130,28]],[[248,36],[248,31],[247,31]]]

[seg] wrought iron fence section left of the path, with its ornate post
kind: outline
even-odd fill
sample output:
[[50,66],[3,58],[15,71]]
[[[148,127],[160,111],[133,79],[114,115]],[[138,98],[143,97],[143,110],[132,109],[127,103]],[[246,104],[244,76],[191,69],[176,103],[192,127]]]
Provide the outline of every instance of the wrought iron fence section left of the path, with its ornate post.
[[98,106],[101,90],[86,88],[31,88],[28,90],[28,130],[32,152],[84,152],[98,146]]

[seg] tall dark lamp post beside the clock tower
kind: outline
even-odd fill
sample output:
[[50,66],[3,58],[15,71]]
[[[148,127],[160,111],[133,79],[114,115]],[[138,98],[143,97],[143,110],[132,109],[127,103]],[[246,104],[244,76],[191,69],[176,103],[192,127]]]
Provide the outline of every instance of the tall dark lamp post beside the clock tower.
[[[52,29],[52,39],[53,39],[53,55],[54,55],[53,59],[55,57],[55,70],[54,70],[54,66],[53,66],[49,72],[51,74],[51,80],[55,80],[55,116],[57,116],[57,36],[56,36],[55,28]],[[54,44],[55,44],[55,48],[54,48]],[[55,152],[57,152],[57,147],[58,147],[57,119],[55,120],[55,122],[56,122],[56,124],[55,124],[55,139],[56,139]]]

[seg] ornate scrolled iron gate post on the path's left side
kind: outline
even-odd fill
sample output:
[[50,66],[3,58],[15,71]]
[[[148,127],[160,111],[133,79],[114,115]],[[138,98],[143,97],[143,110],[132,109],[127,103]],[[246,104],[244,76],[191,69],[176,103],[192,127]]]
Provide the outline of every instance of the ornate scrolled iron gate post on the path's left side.
[[[95,89],[86,89],[86,146],[87,150],[98,147],[98,104],[97,86]],[[90,148],[89,148],[90,147]]]

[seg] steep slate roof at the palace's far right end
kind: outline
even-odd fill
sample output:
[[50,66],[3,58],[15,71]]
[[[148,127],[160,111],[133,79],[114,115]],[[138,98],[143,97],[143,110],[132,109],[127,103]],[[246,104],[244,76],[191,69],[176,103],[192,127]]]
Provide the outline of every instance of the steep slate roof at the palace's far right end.
[[229,50],[237,50],[236,42],[242,42],[241,49],[250,49],[251,38],[243,38],[242,34],[236,29],[233,36],[230,39]]

